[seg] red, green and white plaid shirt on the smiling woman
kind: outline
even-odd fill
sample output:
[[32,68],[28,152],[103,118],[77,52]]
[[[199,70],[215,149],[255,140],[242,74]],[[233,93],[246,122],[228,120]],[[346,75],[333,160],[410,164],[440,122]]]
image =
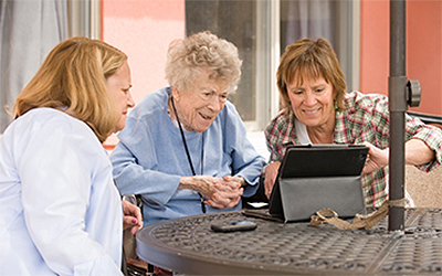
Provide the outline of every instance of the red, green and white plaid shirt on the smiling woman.
[[[346,95],[348,109],[336,113],[334,144],[360,144],[368,141],[380,149],[388,148],[390,114],[388,98],[380,94],[351,92]],[[264,130],[270,161],[282,161],[290,145],[299,145],[295,131],[294,114],[283,109]],[[418,138],[435,151],[435,160],[418,168],[430,171],[442,162],[442,131],[406,116],[406,140]],[[388,197],[388,166],[361,177],[367,206],[380,206]],[[408,205],[413,205],[407,194]]]

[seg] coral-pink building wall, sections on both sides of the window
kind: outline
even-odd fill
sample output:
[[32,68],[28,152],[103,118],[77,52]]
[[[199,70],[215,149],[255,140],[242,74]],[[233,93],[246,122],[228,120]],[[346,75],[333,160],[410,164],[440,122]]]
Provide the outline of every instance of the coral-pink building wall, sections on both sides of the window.
[[[389,0],[360,0],[360,91],[388,95]],[[407,75],[419,79],[415,112],[442,115],[442,1],[407,1]],[[185,0],[102,0],[102,39],[129,55],[138,103],[167,84],[169,42],[185,35]]]

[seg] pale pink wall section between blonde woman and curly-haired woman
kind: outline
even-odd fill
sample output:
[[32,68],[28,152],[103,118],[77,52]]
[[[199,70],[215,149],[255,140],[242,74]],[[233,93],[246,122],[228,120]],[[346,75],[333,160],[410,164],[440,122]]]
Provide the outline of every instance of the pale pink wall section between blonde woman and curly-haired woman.
[[[131,70],[135,103],[167,85],[169,43],[185,36],[185,0],[102,0],[102,40],[120,49]],[[112,150],[118,139],[104,144]]]

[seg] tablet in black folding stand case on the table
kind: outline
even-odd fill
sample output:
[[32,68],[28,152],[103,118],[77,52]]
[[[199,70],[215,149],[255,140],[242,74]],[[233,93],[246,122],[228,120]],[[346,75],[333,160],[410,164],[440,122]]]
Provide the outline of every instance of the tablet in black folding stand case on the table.
[[366,214],[360,174],[368,148],[362,145],[291,146],[270,198],[270,214],[285,222],[308,221],[332,209],[339,217]]

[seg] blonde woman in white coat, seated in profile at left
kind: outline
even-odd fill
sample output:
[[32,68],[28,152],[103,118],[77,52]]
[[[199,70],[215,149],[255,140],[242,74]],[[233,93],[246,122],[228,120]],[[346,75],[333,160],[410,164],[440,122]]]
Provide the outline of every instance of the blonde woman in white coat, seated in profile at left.
[[130,86],[126,54],[72,38],[20,93],[0,139],[1,275],[122,275],[123,221],[136,231],[141,214],[122,208],[102,142]]

